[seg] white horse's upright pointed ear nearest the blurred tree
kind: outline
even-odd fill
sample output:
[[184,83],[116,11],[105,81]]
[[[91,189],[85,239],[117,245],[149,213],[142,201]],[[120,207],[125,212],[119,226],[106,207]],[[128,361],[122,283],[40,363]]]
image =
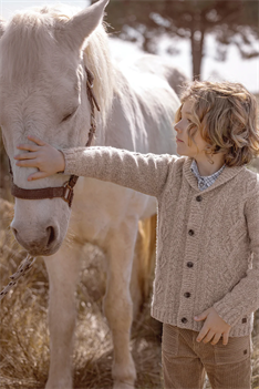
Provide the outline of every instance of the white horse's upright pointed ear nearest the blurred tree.
[[73,47],[81,48],[84,40],[96,29],[102,22],[105,7],[110,0],[100,0],[90,6],[85,10],[75,14],[66,24],[65,32],[68,43]]

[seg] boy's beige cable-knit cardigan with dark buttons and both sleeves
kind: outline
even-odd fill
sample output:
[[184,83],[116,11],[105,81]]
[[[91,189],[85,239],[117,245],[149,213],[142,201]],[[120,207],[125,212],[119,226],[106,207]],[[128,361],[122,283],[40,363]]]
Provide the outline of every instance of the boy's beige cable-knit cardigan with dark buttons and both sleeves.
[[252,330],[259,308],[259,178],[226,166],[204,192],[189,157],[113,147],[69,149],[65,174],[110,181],[158,203],[152,315],[199,331],[194,317],[214,307],[230,336]]

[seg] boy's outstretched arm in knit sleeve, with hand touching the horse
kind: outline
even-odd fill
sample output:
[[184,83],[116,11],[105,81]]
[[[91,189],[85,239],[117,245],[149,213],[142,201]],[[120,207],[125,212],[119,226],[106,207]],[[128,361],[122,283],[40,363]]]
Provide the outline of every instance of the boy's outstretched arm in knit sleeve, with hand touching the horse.
[[107,181],[155,197],[163,192],[170,166],[178,158],[105,146],[59,151],[35,136],[29,140],[34,144],[20,145],[19,149],[27,153],[15,156],[19,166],[38,167],[39,172],[31,174],[29,180],[64,172],[65,175]]

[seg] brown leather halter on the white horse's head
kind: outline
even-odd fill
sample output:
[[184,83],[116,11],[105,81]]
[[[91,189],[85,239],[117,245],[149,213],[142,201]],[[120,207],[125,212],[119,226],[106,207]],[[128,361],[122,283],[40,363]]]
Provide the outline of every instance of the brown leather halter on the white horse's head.
[[[91,146],[91,143],[93,141],[93,137],[94,137],[94,134],[96,131],[94,106],[96,106],[97,111],[100,111],[100,106],[97,104],[97,101],[96,101],[94,92],[93,92],[94,75],[86,66],[85,66],[85,72],[87,75],[86,91],[87,91],[87,98],[89,98],[89,102],[90,102],[90,106],[91,106],[91,129],[89,132],[89,140],[87,140],[87,143],[85,145],[86,147],[89,147],[89,146]],[[79,180],[77,175],[71,175],[70,180],[66,181],[63,186],[44,187],[44,188],[39,188],[39,190],[22,190],[21,187],[17,186],[13,183],[13,173],[12,173],[10,160],[9,160],[9,165],[10,165],[10,174],[12,177],[11,194],[14,197],[24,198],[24,199],[42,199],[42,198],[61,197],[61,198],[63,198],[64,202],[66,202],[69,204],[69,207],[71,207],[73,196],[74,196],[74,186]]]

